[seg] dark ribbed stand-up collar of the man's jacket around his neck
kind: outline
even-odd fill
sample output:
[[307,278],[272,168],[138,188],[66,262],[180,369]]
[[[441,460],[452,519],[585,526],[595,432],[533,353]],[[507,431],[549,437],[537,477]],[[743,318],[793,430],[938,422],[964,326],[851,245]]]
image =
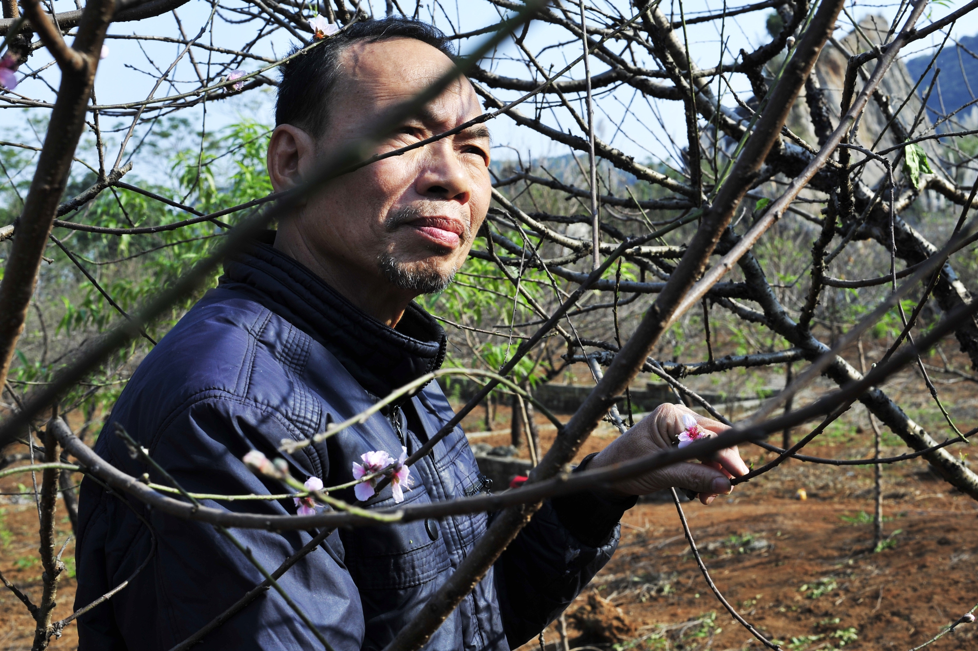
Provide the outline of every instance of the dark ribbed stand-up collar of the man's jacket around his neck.
[[396,327],[369,316],[308,268],[275,249],[267,231],[224,263],[218,283],[248,293],[323,344],[376,397],[441,367],[445,331],[412,301]]

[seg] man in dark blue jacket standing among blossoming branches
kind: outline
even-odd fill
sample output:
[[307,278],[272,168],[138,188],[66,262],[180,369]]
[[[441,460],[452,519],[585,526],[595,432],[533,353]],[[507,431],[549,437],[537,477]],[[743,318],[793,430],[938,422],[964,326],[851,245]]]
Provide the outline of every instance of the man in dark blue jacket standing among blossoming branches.
[[[276,191],[299,184],[317,161],[354,141],[385,111],[450,69],[447,39],[421,22],[359,22],[284,66],[268,151]],[[466,79],[401,124],[378,152],[452,129],[479,114]],[[445,336],[413,299],[443,289],[462,266],[489,207],[489,134],[468,128],[333,180],[281,220],[277,234],[225,263],[218,286],[176,325],[134,373],[96,450],[134,476],[156,472],[111,434],[121,423],[185,489],[217,495],[279,494],[242,462],[251,450],[279,456],[282,439],[304,440],[362,412],[437,369]],[[598,467],[668,447],[685,408],[663,406],[582,465]],[[300,481],[352,480],[372,451],[417,450],[453,412],[437,384],[363,425],[289,458]],[[699,418],[706,429],[723,426]],[[509,649],[534,637],[610,557],[618,520],[636,495],[666,486],[728,493],[746,472],[735,450],[680,463],[615,493],[550,499],[493,571],[432,636],[430,649]],[[456,430],[411,467],[403,504],[484,490]],[[353,501],[352,489],[335,495]],[[394,502],[384,489],[370,507]],[[209,506],[295,512],[291,499],[206,500]],[[262,576],[212,527],[156,513],[82,487],[76,606],[149,564],[109,601],[79,618],[79,648],[168,649],[236,602]],[[279,583],[334,649],[382,649],[485,531],[487,515],[446,517],[333,532]],[[235,530],[266,568],[278,567],[317,532]],[[154,549],[154,544],[156,545]],[[204,649],[320,648],[274,590],[203,638]]]

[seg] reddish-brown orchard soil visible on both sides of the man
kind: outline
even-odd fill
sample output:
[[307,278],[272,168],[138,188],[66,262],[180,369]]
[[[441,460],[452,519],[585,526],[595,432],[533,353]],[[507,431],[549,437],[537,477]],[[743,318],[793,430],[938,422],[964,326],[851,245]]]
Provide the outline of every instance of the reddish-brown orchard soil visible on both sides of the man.
[[[954,381],[948,374],[936,377]],[[943,440],[947,425],[921,415],[936,412],[921,385],[919,375],[907,371],[884,388]],[[813,396],[826,388],[827,384],[814,387]],[[978,425],[973,382],[946,383],[939,390],[961,431]],[[916,408],[919,414],[913,412]],[[493,416],[489,423],[484,410],[467,416],[463,425],[472,443],[511,443],[510,410],[499,407]],[[544,426],[545,419],[539,422],[547,449],[555,431]],[[795,438],[809,429],[799,426]],[[899,439],[883,431],[883,456],[907,452]],[[600,450],[616,435],[602,423],[580,456]],[[806,449],[809,454],[872,456],[867,412],[859,405],[820,439]],[[952,450],[970,452],[960,446]],[[773,457],[752,446],[742,448],[741,454],[755,465]],[[525,445],[519,456],[527,456]],[[710,506],[687,501],[683,508],[716,585],[745,619],[783,648],[908,651],[978,603],[978,502],[931,474],[925,461],[884,466],[887,538],[885,548],[874,552],[869,549],[872,486],[870,466],[789,461]],[[798,499],[799,489],[807,499]],[[31,490],[29,474],[0,481],[0,493],[22,490]],[[59,545],[69,534],[59,502]],[[36,544],[33,498],[0,497],[0,570],[34,599],[40,596],[42,572]],[[72,555],[69,542],[56,618],[71,610]],[[125,598],[125,592],[116,598]],[[978,649],[976,627],[959,626],[927,648]],[[557,628],[555,623],[545,631],[548,651],[562,649]],[[566,631],[572,649],[763,648],[706,586],[671,501],[640,503],[626,513],[617,552],[566,611]],[[0,649],[29,649],[32,636],[33,621],[22,603],[10,591],[0,592]],[[50,648],[76,646],[72,625]],[[534,640],[520,648],[540,647]]]

